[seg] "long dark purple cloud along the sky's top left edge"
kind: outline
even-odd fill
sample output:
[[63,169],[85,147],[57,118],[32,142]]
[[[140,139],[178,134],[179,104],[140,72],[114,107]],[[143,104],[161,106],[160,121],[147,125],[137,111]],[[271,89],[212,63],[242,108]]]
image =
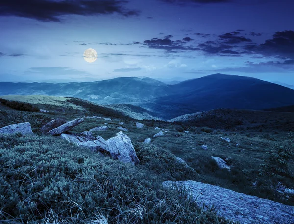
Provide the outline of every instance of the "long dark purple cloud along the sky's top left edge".
[[138,15],[135,10],[123,7],[127,0],[1,0],[0,16],[26,17],[44,22],[61,22],[65,15],[103,15],[118,13]]

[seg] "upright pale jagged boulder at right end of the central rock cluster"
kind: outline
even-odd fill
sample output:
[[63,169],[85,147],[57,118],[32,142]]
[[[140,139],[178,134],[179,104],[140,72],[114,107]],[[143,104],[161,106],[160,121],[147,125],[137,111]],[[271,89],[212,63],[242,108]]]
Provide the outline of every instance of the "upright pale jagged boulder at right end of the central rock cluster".
[[123,132],[117,133],[116,137],[112,137],[107,141],[108,151],[113,159],[118,159],[125,163],[133,165],[139,164],[131,139]]

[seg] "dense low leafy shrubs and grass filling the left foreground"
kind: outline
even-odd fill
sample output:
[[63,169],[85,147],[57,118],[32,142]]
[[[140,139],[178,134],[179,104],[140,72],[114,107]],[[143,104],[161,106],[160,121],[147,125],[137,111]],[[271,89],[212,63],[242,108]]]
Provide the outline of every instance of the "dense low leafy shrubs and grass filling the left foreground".
[[[184,170],[165,151],[151,156],[142,148],[139,154],[152,169],[152,159],[167,156],[161,164],[171,176]],[[101,157],[57,137],[1,134],[0,167],[0,220],[5,223],[227,223],[199,208],[187,192],[164,189],[164,168],[154,175],[148,166]]]

